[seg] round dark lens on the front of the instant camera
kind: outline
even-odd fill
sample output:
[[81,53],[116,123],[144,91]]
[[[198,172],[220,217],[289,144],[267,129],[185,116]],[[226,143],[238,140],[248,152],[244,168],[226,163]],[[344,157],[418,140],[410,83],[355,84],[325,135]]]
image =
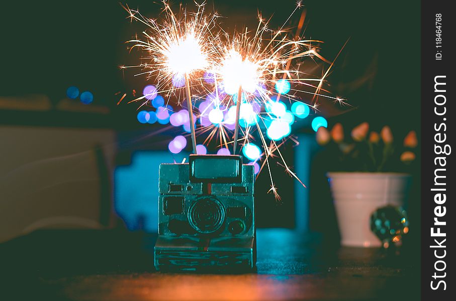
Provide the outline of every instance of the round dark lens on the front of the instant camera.
[[188,218],[190,225],[198,232],[213,233],[225,221],[225,207],[215,198],[201,198],[190,206]]

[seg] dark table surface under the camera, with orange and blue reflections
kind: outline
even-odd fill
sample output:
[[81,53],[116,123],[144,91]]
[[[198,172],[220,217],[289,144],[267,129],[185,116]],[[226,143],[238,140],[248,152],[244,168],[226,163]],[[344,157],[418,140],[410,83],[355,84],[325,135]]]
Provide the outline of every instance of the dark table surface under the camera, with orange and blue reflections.
[[1,300],[418,300],[413,249],[386,253],[257,230],[257,271],[160,273],[154,235],[42,230],[0,244]]

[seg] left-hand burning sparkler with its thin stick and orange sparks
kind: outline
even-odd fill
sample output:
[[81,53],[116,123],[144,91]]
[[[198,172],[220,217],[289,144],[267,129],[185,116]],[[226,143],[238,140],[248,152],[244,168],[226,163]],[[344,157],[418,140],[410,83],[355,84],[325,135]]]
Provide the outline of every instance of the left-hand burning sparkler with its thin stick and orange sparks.
[[[134,43],[132,48],[140,47],[147,51],[151,63],[145,63],[139,67],[144,68],[145,73],[150,76],[156,75],[158,82],[164,83],[160,87],[166,86],[176,79],[184,79],[193,152],[196,154],[197,143],[190,78],[192,73],[205,70],[208,67],[210,55],[216,51],[209,40],[217,16],[206,16],[204,5],[198,6],[196,13],[189,14],[180,11],[179,15],[176,16],[165,1],[163,1],[163,5],[166,14],[162,23],[147,19],[128,6],[124,7],[130,14],[129,18],[142,22],[150,30],[149,33],[144,32],[147,40],[135,39],[128,41],[128,43]],[[173,88],[169,91],[173,92]],[[140,99],[142,97],[135,100]]]

